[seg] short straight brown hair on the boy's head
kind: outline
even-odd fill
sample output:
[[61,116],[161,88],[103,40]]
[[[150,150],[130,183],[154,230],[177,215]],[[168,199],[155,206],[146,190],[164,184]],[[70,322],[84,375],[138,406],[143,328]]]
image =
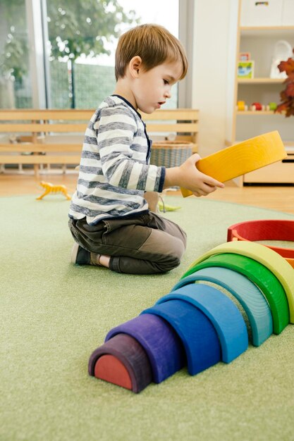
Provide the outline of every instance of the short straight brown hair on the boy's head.
[[180,80],[185,77],[188,70],[185,49],[163,26],[140,25],[121,35],[116,48],[116,81],[125,76],[125,68],[134,56],[142,58],[145,70],[165,62],[179,61],[183,65]]

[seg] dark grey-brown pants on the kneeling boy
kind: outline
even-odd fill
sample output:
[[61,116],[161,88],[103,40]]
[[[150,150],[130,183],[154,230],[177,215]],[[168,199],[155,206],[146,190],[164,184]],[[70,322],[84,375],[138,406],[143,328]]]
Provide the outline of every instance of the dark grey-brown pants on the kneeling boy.
[[111,256],[109,268],[117,273],[165,273],[180,264],[185,251],[185,232],[152,211],[97,225],[88,225],[85,218],[70,219],[68,225],[82,248]]

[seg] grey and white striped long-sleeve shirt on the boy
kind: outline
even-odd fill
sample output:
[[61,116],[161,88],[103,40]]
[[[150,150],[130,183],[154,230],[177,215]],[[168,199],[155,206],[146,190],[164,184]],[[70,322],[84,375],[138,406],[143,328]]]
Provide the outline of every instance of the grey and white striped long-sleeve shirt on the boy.
[[161,192],[165,168],[149,165],[151,142],[140,113],[122,97],[107,97],[85,132],[70,218],[94,225],[147,211],[145,191]]

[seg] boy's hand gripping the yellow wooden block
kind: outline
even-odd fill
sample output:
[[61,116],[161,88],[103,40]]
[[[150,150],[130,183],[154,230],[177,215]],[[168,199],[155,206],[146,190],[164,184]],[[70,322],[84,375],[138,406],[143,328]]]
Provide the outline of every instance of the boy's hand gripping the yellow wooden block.
[[164,188],[177,185],[178,187],[190,190],[197,197],[207,196],[207,194],[214,192],[217,188],[223,188],[222,182],[197,170],[195,164],[199,160],[199,154],[195,153],[181,166],[166,168]]

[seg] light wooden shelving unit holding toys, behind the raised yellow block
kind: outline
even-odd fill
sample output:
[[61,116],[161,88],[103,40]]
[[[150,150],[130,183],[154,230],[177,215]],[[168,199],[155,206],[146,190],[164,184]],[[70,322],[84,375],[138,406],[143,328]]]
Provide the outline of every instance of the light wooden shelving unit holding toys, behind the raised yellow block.
[[[286,146],[288,159],[247,173],[236,182],[238,185],[246,182],[294,183],[294,117],[286,118],[274,111],[238,111],[236,107],[237,101],[245,101],[248,108],[254,102],[264,105],[281,102],[280,92],[285,88],[284,79],[270,77],[271,61],[274,46],[279,40],[286,40],[294,48],[294,14],[293,26],[242,26],[241,1],[231,1],[226,145],[278,130]],[[238,77],[240,52],[250,52],[250,59],[255,61],[253,78]]]

